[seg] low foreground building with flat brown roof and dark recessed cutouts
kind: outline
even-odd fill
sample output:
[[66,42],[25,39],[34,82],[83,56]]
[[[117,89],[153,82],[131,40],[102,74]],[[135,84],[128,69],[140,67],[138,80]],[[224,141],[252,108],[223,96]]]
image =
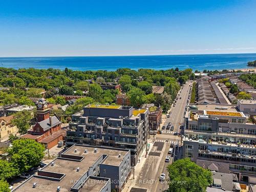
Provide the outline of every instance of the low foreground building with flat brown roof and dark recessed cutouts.
[[130,173],[130,150],[75,144],[12,191],[121,191]]

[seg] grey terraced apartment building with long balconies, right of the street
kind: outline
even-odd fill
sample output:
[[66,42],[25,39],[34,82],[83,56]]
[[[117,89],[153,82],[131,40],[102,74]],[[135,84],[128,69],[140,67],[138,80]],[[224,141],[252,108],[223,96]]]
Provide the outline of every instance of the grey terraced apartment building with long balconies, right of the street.
[[190,106],[184,124],[183,157],[228,163],[239,180],[256,177],[256,125],[236,106]]

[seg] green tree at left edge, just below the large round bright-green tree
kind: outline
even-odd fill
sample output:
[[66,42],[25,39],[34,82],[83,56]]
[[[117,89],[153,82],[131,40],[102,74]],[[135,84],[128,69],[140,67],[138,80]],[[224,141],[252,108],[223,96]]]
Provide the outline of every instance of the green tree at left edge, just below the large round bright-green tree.
[[18,170],[12,163],[0,159],[0,180],[7,180],[18,175]]

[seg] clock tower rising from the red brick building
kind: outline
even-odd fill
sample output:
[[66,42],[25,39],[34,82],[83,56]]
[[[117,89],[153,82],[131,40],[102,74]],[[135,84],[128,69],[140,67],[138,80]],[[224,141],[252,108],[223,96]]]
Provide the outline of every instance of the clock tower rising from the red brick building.
[[36,102],[37,122],[46,120],[50,117],[50,109],[48,102],[44,98],[38,99]]

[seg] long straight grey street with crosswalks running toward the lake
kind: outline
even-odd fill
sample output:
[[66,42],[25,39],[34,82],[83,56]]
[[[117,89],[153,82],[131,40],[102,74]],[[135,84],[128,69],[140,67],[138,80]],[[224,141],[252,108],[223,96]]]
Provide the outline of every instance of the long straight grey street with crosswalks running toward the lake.
[[[172,114],[169,118],[166,118],[162,123],[165,127],[169,122],[174,125],[174,130],[162,130],[162,134],[151,135],[151,139],[155,141],[150,153],[148,154],[143,167],[140,170],[139,176],[135,178],[135,186],[131,191],[142,191],[140,189],[147,189],[146,191],[163,191],[168,188],[168,172],[167,165],[172,164],[173,158],[178,156],[178,144],[181,143],[181,137],[175,136],[175,132],[180,132],[180,125],[184,122],[184,111],[187,105],[187,99],[189,95],[189,85],[191,82],[186,83],[183,89],[180,91],[176,106],[173,106],[170,111]],[[181,97],[181,99],[180,99]],[[170,145],[175,146],[174,153],[168,154]],[[170,162],[165,162],[166,156],[171,156]],[[160,182],[160,175],[165,174],[165,182]]]

